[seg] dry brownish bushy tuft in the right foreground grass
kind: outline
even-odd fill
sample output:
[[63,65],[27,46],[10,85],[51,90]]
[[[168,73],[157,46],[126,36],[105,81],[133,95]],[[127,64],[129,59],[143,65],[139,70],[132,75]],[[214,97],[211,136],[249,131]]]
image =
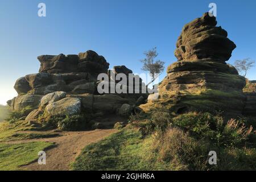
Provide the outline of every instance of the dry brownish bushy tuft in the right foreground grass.
[[166,164],[170,170],[207,170],[207,142],[196,140],[175,127],[170,127],[154,139],[151,147],[157,154],[157,161]]

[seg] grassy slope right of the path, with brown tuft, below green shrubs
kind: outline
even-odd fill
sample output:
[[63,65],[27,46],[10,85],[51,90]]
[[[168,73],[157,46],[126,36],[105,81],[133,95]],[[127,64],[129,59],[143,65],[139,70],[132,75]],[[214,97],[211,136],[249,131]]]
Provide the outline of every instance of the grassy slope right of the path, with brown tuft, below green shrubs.
[[[209,151],[217,152],[217,164],[208,164]],[[216,148],[192,138],[180,129],[141,137],[127,127],[100,142],[86,146],[73,170],[255,170],[255,148]]]

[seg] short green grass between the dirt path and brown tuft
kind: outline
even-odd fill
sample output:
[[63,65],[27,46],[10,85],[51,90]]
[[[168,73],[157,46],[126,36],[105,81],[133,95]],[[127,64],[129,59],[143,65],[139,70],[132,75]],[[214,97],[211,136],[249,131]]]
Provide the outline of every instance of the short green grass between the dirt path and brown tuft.
[[[140,170],[144,139],[137,130],[123,129],[100,142],[86,146],[72,164],[73,170]],[[146,151],[145,151],[146,152]],[[150,168],[147,168],[150,169]]]

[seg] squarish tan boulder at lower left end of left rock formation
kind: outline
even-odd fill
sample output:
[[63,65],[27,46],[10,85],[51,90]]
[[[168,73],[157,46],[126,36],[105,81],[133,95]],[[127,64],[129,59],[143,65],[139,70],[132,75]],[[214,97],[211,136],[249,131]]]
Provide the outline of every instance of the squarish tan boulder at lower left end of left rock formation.
[[24,107],[31,106],[36,108],[39,106],[43,96],[26,94],[17,96],[14,101],[14,110],[22,110]]

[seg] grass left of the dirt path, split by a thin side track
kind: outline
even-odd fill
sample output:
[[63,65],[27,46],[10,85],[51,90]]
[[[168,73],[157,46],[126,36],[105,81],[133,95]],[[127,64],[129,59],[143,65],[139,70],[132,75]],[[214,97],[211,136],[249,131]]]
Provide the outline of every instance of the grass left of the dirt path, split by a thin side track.
[[[10,124],[9,122],[0,123],[0,142],[10,140],[23,140],[33,138],[56,137],[54,133],[19,133],[20,131],[30,130],[30,127],[23,122]],[[19,144],[0,143],[0,170],[19,170],[19,166],[28,164],[38,159],[38,152],[53,146],[49,142],[29,142]]]

